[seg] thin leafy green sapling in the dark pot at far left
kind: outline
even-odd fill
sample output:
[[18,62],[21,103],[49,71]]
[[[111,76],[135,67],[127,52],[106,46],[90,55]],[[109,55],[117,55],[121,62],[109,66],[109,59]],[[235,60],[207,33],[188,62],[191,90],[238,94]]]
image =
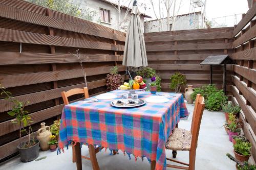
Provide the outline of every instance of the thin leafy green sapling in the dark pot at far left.
[[[24,110],[24,107],[29,103],[29,101],[26,102],[20,102],[18,100],[15,100],[13,98],[12,93],[7,91],[5,87],[3,87],[0,84],[0,89],[2,90],[1,95],[5,96],[5,100],[10,101],[13,103],[12,110],[8,112],[10,116],[14,116],[15,118],[11,120],[11,123],[18,124],[19,127],[19,145],[20,148],[30,148],[33,147],[33,145],[36,144],[36,141],[34,139],[34,135],[32,128],[30,126],[30,123],[33,121],[31,120],[30,115],[28,115],[28,111]],[[26,127],[28,126],[28,130],[26,130]],[[25,142],[22,145],[22,133],[25,132],[28,134],[28,142]]]

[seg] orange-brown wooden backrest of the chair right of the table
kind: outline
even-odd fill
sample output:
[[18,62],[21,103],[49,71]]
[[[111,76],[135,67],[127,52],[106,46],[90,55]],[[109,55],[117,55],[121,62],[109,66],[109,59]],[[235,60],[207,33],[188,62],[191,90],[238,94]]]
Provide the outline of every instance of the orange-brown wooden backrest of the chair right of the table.
[[197,148],[197,140],[199,136],[199,130],[200,130],[200,125],[201,125],[201,120],[204,112],[204,98],[201,96],[201,94],[197,94],[198,100],[194,113],[193,113],[193,123],[191,125],[191,134],[192,134],[192,141],[191,141],[191,149],[196,149]]

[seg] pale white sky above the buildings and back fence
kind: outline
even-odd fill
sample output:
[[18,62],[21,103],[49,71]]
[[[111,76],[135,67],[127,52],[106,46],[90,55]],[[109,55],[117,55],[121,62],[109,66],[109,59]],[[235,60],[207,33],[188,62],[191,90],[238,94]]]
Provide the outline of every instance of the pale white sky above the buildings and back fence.
[[[127,1],[127,0],[123,0]],[[150,0],[137,0],[138,4],[141,3],[146,4],[146,10],[143,9],[143,7],[140,7],[140,11],[142,13],[145,13],[147,15],[152,16],[152,19],[156,19],[156,16],[154,14],[152,5],[150,3]],[[180,0],[177,0],[177,2],[180,2]],[[158,0],[153,0],[154,8],[156,13],[158,14]],[[186,14],[189,13],[189,5],[190,0],[182,0],[181,8],[178,14]],[[217,22],[224,22],[225,18],[223,16],[233,15],[226,17],[226,24],[229,26],[233,26],[234,22],[239,22],[241,20],[241,14],[246,13],[248,11],[248,4],[247,0],[206,0],[206,18],[208,20],[212,20],[212,18],[222,17],[215,19]],[[196,11],[199,11],[200,8],[197,8]],[[172,13],[172,12],[171,12]],[[237,20],[235,21],[234,14],[240,14],[238,15]],[[166,12],[164,12],[164,17],[166,17]],[[148,19],[151,20],[151,19]]]

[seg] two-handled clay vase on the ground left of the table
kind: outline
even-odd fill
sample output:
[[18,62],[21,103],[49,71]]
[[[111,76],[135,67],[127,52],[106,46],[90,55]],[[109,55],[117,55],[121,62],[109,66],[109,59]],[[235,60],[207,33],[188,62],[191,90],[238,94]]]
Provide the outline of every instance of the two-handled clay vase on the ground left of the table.
[[50,127],[46,126],[46,123],[41,123],[41,128],[37,131],[36,138],[39,140],[40,148],[42,151],[47,151],[50,149],[48,142],[50,141]]

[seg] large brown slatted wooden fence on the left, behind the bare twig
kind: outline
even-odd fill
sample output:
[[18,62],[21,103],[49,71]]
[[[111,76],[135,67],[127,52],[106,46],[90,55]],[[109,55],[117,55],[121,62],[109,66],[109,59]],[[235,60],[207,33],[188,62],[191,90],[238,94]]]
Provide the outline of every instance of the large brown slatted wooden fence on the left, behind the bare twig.
[[[20,0],[2,0],[0,82],[14,99],[30,101],[26,110],[36,132],[41,122],[51,125],[61,114],[61,91],[84,87],[79,60],[72,54],[79,48],[89,94],[95,95],[105,92],[110,68],[117,65],[123,73],[124,41],[124,33],[96,23]],[[7,114],[11,108],[10,102],[0,98],[1,161],[17,153],[18,126]]]

